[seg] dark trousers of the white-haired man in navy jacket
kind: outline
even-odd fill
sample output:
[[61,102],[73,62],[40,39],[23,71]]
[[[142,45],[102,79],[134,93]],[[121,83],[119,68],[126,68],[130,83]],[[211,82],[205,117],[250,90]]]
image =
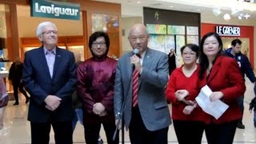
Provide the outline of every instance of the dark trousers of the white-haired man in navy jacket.
[[49,144],[50,126],[54,128],[54,139],[56,144],[72,144],[73,130],[72,122],[30,122],[31,144]]

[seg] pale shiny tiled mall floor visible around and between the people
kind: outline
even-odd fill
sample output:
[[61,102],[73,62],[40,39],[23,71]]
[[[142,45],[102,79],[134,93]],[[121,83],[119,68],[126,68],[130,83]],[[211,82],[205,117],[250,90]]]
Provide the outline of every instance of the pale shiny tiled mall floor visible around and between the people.
[[[243,120],[246,129],[237,129],[234,144],[256,143],[256,128],[254,128],[253,124],[253,114],[250,114],[248,110],[250,99],[254,97],[253,84],[246,81],[246,87],[245,114]],[[13,103],[14,102],[10,101],[9,106],[6,107],[6,115],[4,119],[5,127],[0,130],[0,144],[30,143],[30,122],[26,120],[28,105],[25,105],[24,100],[20,102],[19,106],[13,106]],[[106,137],[104,136],[103,130],[101,130],[101,136],[106,143]],[[168,140],[171,144],[178,143],[172,125],[169,129]],[[50,133],[50,142],[54,143],[53,131]],[[127,132],[125,133],[125,142],[130,143]],[[79,123],[74,131],[74,143],[85,143],[83,138],[83,128]],[[207,143],[205,135],[202,138],[202,143]]]

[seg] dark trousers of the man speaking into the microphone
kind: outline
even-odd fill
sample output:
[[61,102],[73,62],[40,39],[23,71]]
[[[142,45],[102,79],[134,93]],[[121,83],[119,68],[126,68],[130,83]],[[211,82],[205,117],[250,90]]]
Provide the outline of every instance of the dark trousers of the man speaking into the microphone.
[[150,131],[146,129],[138,106],[133,108],[129,126],[131,144],[166,144],[168,143],[168,129]]

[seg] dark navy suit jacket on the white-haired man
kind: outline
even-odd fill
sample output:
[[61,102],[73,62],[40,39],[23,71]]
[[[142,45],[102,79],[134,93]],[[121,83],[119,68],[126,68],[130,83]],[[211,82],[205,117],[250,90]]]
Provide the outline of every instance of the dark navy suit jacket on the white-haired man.
[[[71,121],[71,95],[77,81],[73,53],[56,48],[53,78],[50,78],[43,47],[27,51],[22,81],[30,94],[30,122]],[[45,108],[44,100],[50,94],[62,98],[60,106],[54,111]]]

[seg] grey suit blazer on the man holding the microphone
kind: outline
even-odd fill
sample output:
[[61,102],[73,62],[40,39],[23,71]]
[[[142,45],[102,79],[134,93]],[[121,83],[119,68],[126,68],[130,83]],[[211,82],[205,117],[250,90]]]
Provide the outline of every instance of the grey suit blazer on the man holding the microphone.
[[[121,112],[125,97],[124,124],[126,130],[130,125],[132,111],[132,73],[130,57],[133,52],[118,59],[114,84],[114,113]],[[170,111],[166,102],[165,86],[168,82],[168,58],[157,50],[147,49],[139,76],[138,109],[147,130],[154,131],[171,124]]]

